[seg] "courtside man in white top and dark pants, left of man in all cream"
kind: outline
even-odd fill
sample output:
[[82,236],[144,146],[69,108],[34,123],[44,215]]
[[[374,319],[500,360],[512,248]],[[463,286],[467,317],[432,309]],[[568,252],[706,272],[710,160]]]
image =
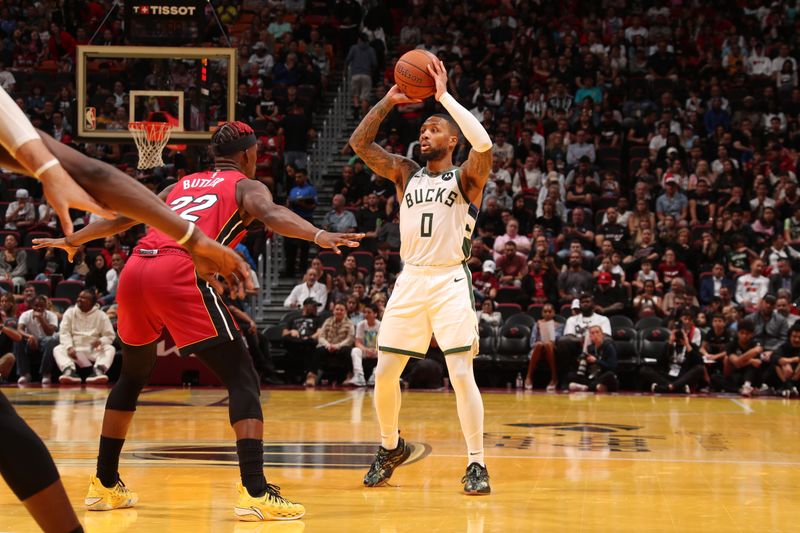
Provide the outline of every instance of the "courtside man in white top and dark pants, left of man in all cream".
[[[25,311],[19,317],[17,326],[22,334],[22,340],[14,345],[19,385],[31,382],[33,361],[40,358],[44,364],[46,355],[55,345],[54,335],[58,331],[58,317],[52,311],[48,311],[46,306],[47,298],[37,296],[33,300],[33,309]],[[49,382],[49,378],[47,381]]]

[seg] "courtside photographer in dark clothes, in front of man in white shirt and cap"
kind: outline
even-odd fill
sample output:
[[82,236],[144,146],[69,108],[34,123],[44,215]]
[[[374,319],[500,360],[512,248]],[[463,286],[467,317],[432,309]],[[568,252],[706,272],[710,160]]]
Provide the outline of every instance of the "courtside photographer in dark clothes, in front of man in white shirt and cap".
[[567,377],[570,392],[614,392],[617,380],[617,349],[599,325],[589,326],[589,342],[578,360],[578,370]]

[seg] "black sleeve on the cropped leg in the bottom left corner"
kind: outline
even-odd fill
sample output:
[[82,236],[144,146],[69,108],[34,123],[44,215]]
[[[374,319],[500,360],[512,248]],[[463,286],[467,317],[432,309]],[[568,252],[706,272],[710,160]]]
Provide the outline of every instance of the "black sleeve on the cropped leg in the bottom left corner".
[[58,470],[42,439],[0,394],[0,473],[20,500],[58,481]]

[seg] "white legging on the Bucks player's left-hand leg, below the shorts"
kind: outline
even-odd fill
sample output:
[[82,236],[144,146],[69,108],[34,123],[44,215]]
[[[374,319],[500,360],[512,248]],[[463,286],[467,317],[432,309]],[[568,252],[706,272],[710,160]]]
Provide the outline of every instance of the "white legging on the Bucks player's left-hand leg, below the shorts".
[[400,376],[408,362],[407,355],[378,353],[375,367],[375,412],[381,426],[381,446],[387,450],[397,448],[400,436],[397,425],[400,417]]

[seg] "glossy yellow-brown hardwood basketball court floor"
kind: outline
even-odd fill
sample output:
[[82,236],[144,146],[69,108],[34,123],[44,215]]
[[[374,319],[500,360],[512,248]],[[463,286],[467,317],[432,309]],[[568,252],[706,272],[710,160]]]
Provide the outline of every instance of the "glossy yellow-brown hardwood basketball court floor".
[[[75,504],[93,471],[105,389],[4,389],[52,451]],[[364,489],[378,425],[371,391],[271,390],[270,481],[306,505],[298,523],[236,522],[224,391],[142,395],[121,471],[135,509],[78,516],[88,532],[798,531],[800,402],[487,393],[494,493],[466,497],[455,398],[403,396],[416,460]],[[3,438],[0,435],[0,438]],[[35,531],[0,483],[0,531]]]

